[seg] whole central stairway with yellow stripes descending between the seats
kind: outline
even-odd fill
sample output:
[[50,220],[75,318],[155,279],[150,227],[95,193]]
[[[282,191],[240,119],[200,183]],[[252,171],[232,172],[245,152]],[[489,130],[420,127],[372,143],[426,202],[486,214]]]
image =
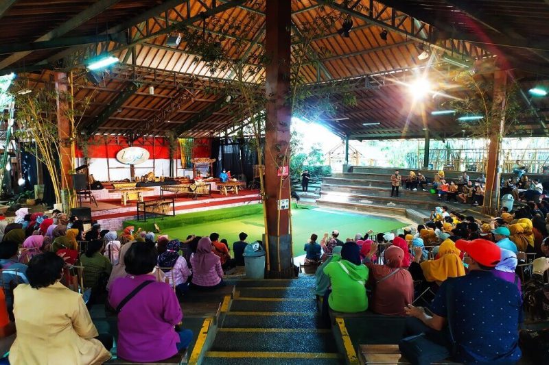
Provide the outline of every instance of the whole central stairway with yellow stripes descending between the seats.
[[314,277],[241,279],[202,364],[344,364],[314,299]]

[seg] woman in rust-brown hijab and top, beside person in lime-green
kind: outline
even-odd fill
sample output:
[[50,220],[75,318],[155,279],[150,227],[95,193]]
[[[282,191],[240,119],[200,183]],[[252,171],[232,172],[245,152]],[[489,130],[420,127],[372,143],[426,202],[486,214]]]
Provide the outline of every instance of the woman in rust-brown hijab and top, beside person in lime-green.
[[[377,251],[372,247],[369,256]],[[404,307],[414,301],[414,281],[408,270],[402,268],[404,251],[390,246],[383,251],[383,265],[366,262],[370,270],[369,287],[373,290],[371,310],[386,316],[406,316]],[[368,260],[368,258],[366,258]]]

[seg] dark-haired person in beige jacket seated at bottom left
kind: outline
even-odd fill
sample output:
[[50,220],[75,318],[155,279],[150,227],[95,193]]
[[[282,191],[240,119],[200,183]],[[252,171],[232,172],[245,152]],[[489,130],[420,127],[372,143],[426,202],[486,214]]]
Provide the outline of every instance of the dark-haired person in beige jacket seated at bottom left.
[[112,336],[97,333],[82,295],[59,282],[64,265],[54,253],[30,260],[29,284],[14,290],[17,337],[10,364],[102,364],[110,358]]

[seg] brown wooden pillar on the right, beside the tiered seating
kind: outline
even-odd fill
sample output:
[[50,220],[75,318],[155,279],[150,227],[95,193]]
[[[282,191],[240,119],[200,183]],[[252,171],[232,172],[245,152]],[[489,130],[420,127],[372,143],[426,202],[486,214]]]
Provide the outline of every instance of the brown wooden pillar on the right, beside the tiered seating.
[[507,73],[495,71],[493,75],[493,116],[498,118],[491,123],[490,144],[488,147],[488,163],[486,166],[486,190],[484,191],[483,212],[495,214],[500,206],[500,151],[505,124]]

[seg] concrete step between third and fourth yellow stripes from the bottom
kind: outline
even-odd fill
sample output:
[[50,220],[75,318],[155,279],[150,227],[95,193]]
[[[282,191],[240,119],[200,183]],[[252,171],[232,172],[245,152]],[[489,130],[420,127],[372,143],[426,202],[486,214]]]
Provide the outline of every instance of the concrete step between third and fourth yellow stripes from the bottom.
[[234,312],[316,312],[314,297],[303,299],[286,298],[245,298],[233,299],[231,311]]

